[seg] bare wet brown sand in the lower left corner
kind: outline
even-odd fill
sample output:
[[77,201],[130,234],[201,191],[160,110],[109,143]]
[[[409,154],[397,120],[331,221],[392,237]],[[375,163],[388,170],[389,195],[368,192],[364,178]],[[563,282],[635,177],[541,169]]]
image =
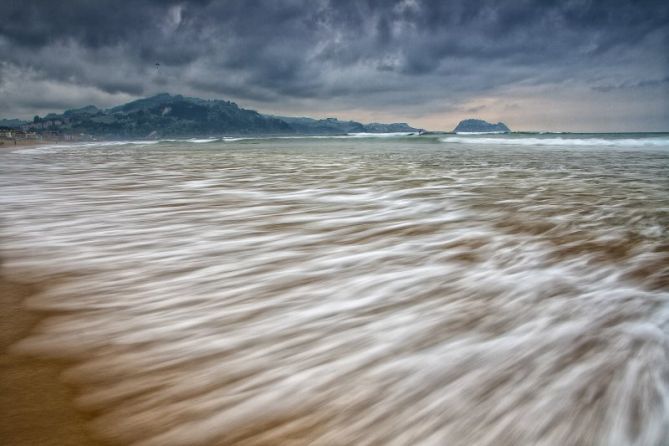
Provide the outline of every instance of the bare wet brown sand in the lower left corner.
[[59,379],[67,364],[11,352],[41,319],[24,305],[40,287],[0,270],[0,439],[12,446],[101,446],[74,408],[73,390]]

